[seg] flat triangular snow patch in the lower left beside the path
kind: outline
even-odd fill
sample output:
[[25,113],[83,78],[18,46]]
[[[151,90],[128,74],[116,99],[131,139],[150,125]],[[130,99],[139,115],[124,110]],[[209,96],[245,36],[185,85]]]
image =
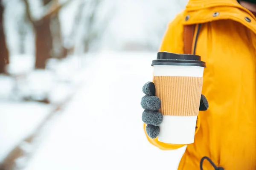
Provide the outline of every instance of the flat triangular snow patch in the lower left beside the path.
[[35,130],[51,109],[36,102],[0,102],[0,161]]

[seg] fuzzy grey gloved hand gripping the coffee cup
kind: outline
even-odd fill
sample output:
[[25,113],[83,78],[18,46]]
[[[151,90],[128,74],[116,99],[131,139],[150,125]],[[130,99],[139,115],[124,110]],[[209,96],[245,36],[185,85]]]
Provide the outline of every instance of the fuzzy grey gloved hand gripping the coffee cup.
[[[163,122],[163,115],[158,112],[161,101],[157,96],[154,96],[155,90],[156,88],[153,82],[145,83],[145,85],[143,85],[143,93],[145,96],[141,99],[141,106],[144,109],[142,121],[147,124],[146,132],[152,139],[157,138],[160,132],[159,125]],[[201,94],[199,111],[206,111],[208,107],[206,97]]]

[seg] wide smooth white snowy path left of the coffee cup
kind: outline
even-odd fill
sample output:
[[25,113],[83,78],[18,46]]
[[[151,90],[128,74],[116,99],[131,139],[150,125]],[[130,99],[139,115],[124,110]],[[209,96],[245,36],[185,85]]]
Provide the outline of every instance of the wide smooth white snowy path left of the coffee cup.
[[25,170],[175,170],[184,148],[145,138],[140,99],[155,54],[104,54]]

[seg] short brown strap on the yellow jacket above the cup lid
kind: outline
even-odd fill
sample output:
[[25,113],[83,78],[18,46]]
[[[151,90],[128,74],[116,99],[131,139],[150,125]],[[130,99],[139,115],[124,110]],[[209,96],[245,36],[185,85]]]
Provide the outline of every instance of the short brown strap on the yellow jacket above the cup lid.
[[195,25],[184,26],[184,32],[183,32],[184,54],[192,54],[194,33],[195,33]]

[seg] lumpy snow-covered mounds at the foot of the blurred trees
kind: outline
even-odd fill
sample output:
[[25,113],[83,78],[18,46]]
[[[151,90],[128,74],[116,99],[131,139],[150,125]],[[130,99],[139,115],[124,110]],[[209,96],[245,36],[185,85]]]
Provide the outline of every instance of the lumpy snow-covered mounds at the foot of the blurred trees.
[[32,98],[60,102],[81,83],[83,60],[88,57],[71,55],[60,60],[48,59],[45,70],[35,70],[33,56],[10,56],[7,72],[11,76],[0,75],[0,99]]

